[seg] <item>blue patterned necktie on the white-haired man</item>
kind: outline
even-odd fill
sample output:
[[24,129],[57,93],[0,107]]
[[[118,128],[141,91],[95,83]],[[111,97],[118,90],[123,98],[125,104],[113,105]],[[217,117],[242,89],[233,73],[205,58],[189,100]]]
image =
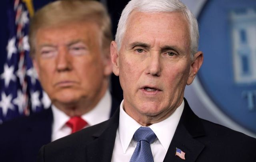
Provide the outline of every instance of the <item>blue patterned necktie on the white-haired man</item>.
[[150,144],[156,139],[156,134],[149,127],[140,127],[133,139],[138,143],[130,162],[154,162]]

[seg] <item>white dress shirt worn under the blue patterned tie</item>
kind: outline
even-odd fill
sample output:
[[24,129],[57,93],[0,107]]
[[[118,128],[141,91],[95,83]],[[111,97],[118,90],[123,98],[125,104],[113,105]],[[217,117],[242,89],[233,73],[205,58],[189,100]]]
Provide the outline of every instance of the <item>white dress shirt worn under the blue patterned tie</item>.
[[[150,144],[154,162],[162,162],[174,136],[184,109],[182,104],[165,120],[152,124],[149,127],[156,134],[156,140]],[[132,138],[141,125],[124,111],[124,100],[120,105],[119,126],[116,132],[116,141],[111,162],[130,162],[137,142]]]

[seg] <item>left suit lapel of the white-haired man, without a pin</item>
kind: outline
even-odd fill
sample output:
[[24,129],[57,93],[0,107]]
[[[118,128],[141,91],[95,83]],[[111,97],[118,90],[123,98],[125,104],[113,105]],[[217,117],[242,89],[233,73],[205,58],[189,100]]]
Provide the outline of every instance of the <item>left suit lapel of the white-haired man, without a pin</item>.
[[119,108],[106,126],[93,134],[95,140],[86,146],[86,162],[111,162],[118,124]]

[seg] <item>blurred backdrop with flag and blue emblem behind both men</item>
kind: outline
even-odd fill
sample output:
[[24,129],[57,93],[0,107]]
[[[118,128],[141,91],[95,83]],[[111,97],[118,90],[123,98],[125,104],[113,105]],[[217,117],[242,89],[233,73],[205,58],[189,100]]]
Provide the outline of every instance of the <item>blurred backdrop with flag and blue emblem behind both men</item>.
[[[27,34],[29,17],[52,1],[1,1],[0,123],[50,106],[29,58]],[[115,34],[120,13],[129,0],[98,1],[107,6]],[[204,52],[202,68],[186,87],[185,98],[201,118],[256,137],[256,1],[182,2],[198,18],[199,50]],[[23,7],[18,8],[18,3]],[[122,89],[114,75],[110,90],[122,100]]]

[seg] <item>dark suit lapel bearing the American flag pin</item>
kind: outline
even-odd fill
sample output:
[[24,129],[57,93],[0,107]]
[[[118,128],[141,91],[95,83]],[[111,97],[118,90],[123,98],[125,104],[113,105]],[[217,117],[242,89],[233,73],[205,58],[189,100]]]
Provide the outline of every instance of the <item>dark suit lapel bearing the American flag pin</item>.
[[[184,101],[184,110],[164,162],[194,162],[204,149],[204,144],[196,140],[196,137],[204,136],[204,128],[200,118],[192,112],[186,99]],[[176,148],[185,152],[186,160],[175,156]]]

